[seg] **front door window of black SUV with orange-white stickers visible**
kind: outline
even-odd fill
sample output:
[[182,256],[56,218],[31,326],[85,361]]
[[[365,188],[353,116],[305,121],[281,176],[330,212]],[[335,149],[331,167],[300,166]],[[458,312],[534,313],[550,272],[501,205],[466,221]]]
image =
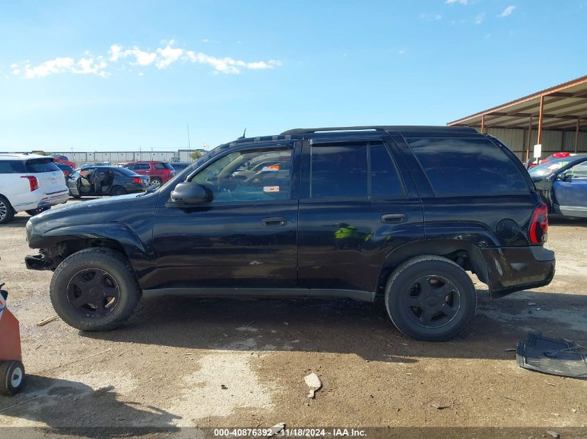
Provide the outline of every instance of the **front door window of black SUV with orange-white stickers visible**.
[[291,150],[237,151],[221,157],[191,180],[213,193],[213,203],[287,200]]

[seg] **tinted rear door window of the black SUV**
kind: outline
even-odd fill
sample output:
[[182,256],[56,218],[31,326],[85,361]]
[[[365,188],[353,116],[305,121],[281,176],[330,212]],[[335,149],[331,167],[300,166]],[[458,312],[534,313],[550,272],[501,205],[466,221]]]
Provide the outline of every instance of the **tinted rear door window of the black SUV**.
[[395,163],[380,141],[317,144],[311,155],[312,198],[381,198],[405,193]]

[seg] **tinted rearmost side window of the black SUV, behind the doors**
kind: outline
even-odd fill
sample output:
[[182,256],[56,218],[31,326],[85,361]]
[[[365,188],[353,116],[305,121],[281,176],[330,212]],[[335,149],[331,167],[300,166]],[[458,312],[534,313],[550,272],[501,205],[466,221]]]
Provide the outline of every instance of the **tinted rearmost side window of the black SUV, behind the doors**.
[[437,196],[529,191],[515,163],[487,139],[407,139]]

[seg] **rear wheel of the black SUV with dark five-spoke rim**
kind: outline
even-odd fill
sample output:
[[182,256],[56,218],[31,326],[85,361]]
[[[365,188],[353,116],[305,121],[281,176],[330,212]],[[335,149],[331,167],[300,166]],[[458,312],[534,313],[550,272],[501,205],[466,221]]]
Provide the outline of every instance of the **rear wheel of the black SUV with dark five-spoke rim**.
[[391,273],[385,293],[391,321],[421,341],[447,341],[465,328],[477,309],[477,291],[450,259],[415,257]]

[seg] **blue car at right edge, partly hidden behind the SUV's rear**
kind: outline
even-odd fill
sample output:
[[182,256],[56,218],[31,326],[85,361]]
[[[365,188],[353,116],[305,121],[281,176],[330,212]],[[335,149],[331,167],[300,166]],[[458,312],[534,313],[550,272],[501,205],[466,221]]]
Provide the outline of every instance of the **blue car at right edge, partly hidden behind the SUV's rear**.
[[550,213],[587,218],[587,155],[549,160],[529,173]]

